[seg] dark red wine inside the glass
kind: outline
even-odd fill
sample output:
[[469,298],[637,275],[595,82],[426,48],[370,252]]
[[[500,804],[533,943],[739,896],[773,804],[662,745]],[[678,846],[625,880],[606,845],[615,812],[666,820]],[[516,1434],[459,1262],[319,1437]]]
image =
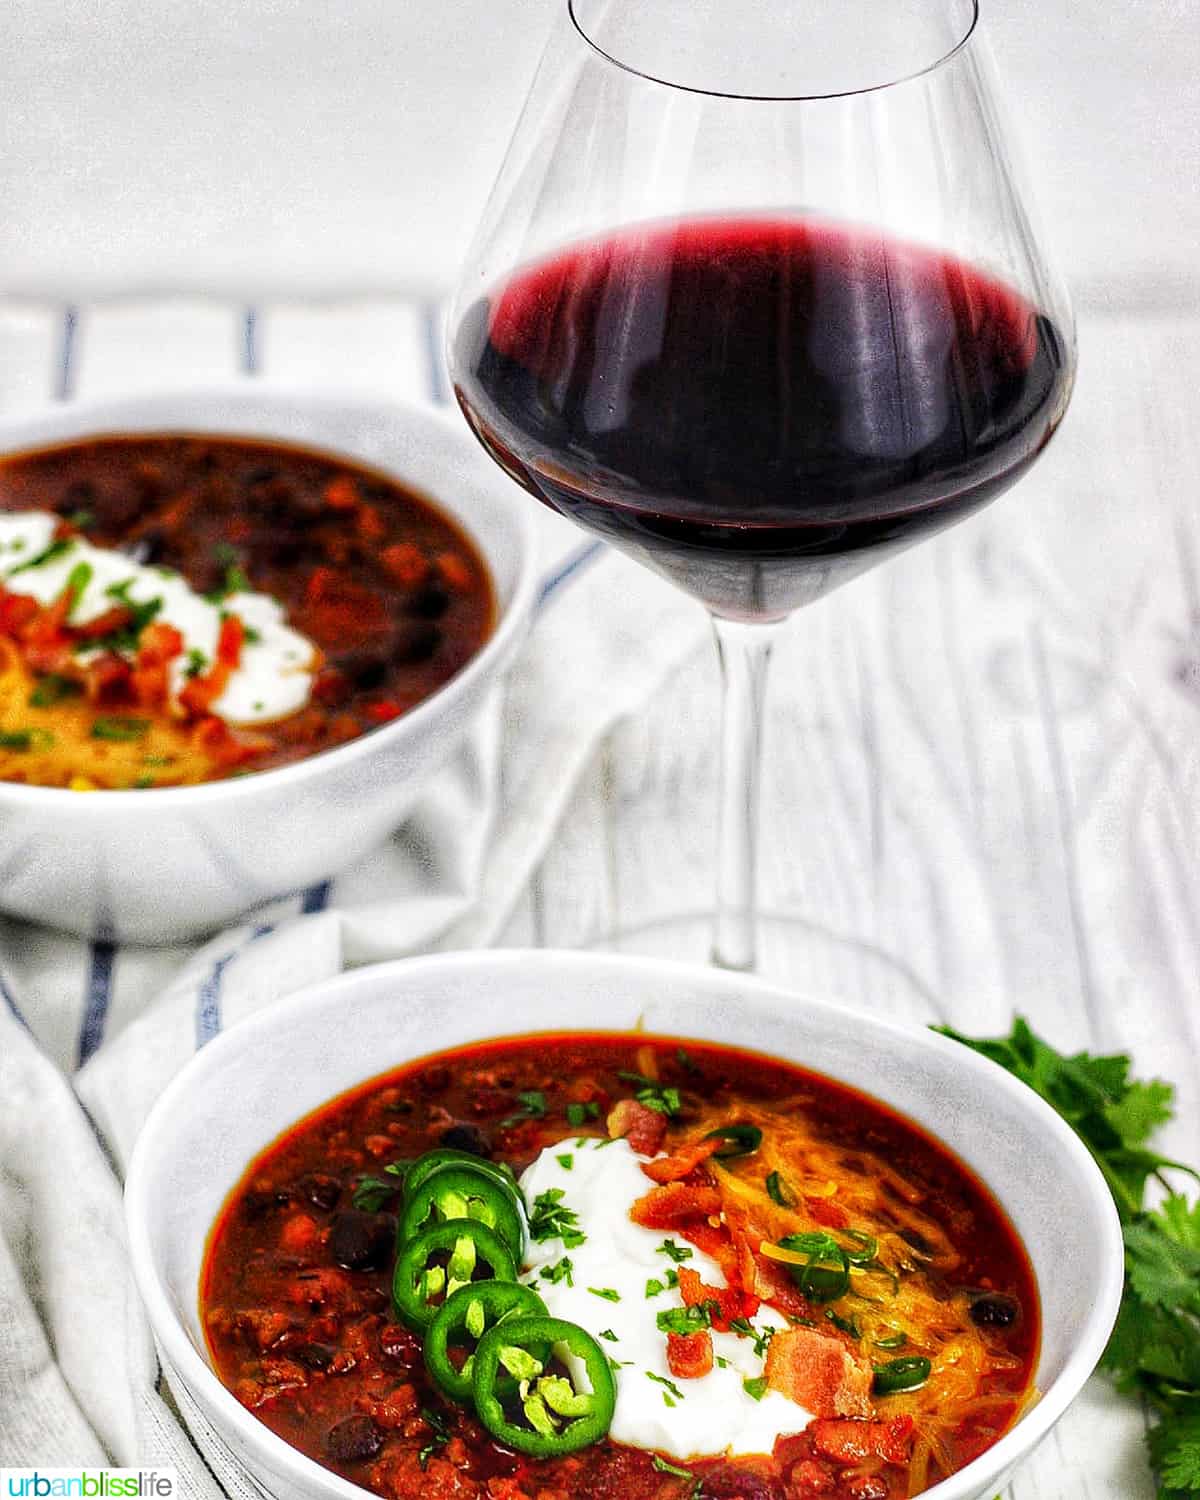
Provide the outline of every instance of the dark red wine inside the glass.
[[982,506],[1070,394],[1062,332],[1012,288],[807,219],[572,246],[468,309],[453,363],[528,490],[741,618]]

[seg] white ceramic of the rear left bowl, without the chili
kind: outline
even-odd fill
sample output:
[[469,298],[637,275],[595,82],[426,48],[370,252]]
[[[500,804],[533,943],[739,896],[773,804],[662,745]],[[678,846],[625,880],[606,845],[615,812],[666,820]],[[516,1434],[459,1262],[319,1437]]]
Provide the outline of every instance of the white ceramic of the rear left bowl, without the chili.
[[172,942],[336,874],[410,812],[508,666],[534,596],[531,507],[432,408],[246,384],[72,402],[0,423],[0,453],[104,432],[267,436],[360,459],[448,512],[492,570],[492,638],[411,712],[278,771],[66,792],[0,782],[0,910],[84,936]]

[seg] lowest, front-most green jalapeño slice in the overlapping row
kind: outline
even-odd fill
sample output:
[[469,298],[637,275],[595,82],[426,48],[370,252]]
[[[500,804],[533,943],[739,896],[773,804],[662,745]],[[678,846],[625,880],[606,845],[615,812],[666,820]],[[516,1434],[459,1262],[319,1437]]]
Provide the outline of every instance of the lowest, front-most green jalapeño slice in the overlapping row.
[[[552,1374],[542,1358],[546,1348],[564,1368],[566,1356],[582,1364],[586,1389],[566,1374]],[[507,1406],[500,1390],[502,1376],[518,1382]],[[585,1329],[555,1317],[516,1316],[488,1329],[476,1350],[471,1392],[492,1437],[530,1458],[560,1458],[598,1443],[616,1408],[608,1354]]]

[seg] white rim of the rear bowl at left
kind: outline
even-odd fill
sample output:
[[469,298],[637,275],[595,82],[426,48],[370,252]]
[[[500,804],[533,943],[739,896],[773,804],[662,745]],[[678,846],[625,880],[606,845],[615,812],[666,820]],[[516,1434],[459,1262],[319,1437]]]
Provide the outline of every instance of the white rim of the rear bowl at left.
[[[286,402],[292,410],[308,410],[316,414],[333,410],[358,410],[363,412],[378,412],[384,417],[398,417],[399,420],[416,417],[418,422],[429,423],[434,428],[441,428],[442,435],[458,442],[464,452],[476,450],[476,444],[470,440],[470,434],[464,429],[464,426],[454,422],[448,411],[441,411],[430,402],[412,400],[411,398],[393,399],[370,392],[342,393],[333,388],[316,388],[297,386],[288,381],[268,380],[260,375],[243,375],[224,384],[212,382],[206,386],[182,386],[177,390],[153,393],[130,392],[126,396],[111,393],[98,398],[70,400],[62,405],[42,402],[38,406],[28,406],[24,411],[0,417],[0,453],[38,452],[42,447],[58,447],[87,436],[120,435],[122,428],[117,418],[111,418],[114,423],[111,428],[100,426],[100,423],[106,420],[108,412],[142,408],[147,416],[153,416],[156,408],[171,408],[180,402],[196,402],[196,405],[201,405],[204,402],[218,400],[225,402],[226,405],[246,408],[256,404],[268,405],[273,400],[280,404]],[[69,426],[78,424],[80,430],[75,432],[74,436],[63,434],[62,436],[46,440],[34,438],[27,442],[24,450],[16,446],[21,442],[22,429],[51,422],[56,424],[57,422],[62,422]],[[174,418],[164,418],[164,426],[159,429],[146,428],[132,430],[135,434],[144,432],[147,436],[152,436],[156,432],[192,432],[210,436],[261,438],[264,441],[270,441],[270,434],[267,432],[238,429],[231,423],[208,428],[204,422],[206,418],[202,416],[196,417],[195,426]],[[386,464],[356,458],[345,448],[339,448],[334,442],[285,435],[282,432],[276,436],[278,441],[284,444],[302,448],[308,447],[315,452],[324,452],[333,456],[346,458],[356,464],[378,468],[386,474],[392,472]],[[478,453],[478,456],[482,458],[482,453]],[[400,483],[412,483],[402,480],[399,476],[394,477]],[[500,470],[496,470],[496,478],[500,480]],[[438,495],[426,494],[423,489],[422,495],[432,504],[448,508]],[[408,712],[400,714],[400,717],[394,718],[392,723],[370,729],[368,734],[348,740],[345,744],[332,746],[327,750],[318,750],[315,754],[304,756],[300,760],[292,760],[288,765],[272,766],[266,771],[255,771],[252,776],[226,777],[219,782],[198,782],[192,786],[154,786],[141,789],[105,788],[96,796],[80,796],[78,792],[72,792],[62,786],[30,786],[24,782],[0,780],[0,802],[14,802],[18,807],[26,806],[30,808],[50,808],[64,807],[66,800],[70,798],[69,806],[72,810],[78,810],[76,816],[84,818],[104,816],[110,812],[129,814],[135,808],[141,813],[146,813],[147,810],[152,813],[168,813],[177,808],[188,810],[200,807],[204,802],[240,801],[243,798],[254,796],[258,789],[285,790],[288,786],[296,786],[324,772],[338,774],[339,770],[350,765],[352,760],[378,754],[393,742],[402,741],[408,735],[418,734],[429,720],[435,718],[442,710],[450,706],[453,700],[466,696],[480,678],[484,678],[496,666],[501,666],[506,662],[510,648],[516,644],[516,640],[519,640],[525,621],[532,610],[534,596],[537,591],[537,534],[534,530],[534,519],[526,506],[516,502],[518,496],[513,495],[510,500],[513,502],[508,506],[512,512],[508,519],[512,522],[513,534],[518,538],[516,578],[508,603],[501,606],[496,600],[495,628],[478,651],[476,651],[476,654],[465,662],[452,678],[447,678],[447,681],[429,693],[428,698],[423,698],[417,705],[410,708]],[[458,514],[453,512],[452,514],[458,522]],[[484,543],[474,532],[470,534],[471,540],[476,543],[490,568],[492,560],[488,555]],[[148,798],[147,792],[150,792]]]

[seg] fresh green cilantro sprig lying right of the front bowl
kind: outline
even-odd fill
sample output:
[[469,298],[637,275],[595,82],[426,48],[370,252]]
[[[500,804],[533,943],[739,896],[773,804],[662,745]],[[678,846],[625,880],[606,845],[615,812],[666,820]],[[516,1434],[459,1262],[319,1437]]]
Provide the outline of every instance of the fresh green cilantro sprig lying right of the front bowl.
[[[1118,1390],[1146,1401],[1160,1500],[1200,1496],[1200,1200],[1173,1173],[1200,1173],[1150,1140],[1173,1114],[1174,1090],[1132,1078],[1125,1056],[1064,1056],[1017,1018],[1010,1036],[945,1036],[982,1053],[1052,1104],[1090,1150],[1112,1188],[1125,1234],[1125,1294],[1102,1368]],[[1150,1186],[1166,1191],[1154,1206]]]

